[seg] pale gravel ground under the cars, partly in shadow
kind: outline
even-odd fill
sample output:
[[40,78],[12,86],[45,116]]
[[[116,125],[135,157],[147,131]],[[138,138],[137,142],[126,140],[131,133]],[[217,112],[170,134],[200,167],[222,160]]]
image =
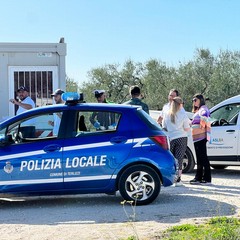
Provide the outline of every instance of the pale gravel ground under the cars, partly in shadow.
[[119,194],[0,199],[0,239],[150,240],[170,226],[240,217],[240,167],[213,170],[212,186],[190,185],[193,176],[184,174],[184,186],[162,188],[155,202],[134,210]]

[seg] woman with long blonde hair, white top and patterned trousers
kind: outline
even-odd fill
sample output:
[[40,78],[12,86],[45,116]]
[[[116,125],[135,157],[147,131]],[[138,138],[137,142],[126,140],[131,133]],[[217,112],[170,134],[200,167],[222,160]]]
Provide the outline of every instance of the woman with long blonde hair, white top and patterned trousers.
[[167,131],[170,140],[170,151],[178,160],[178,176],[175,186],[181,186],[182,162],[187,149],[190,120],[183,108],[183,100],[180,97],[172,99],[169,111],[163,116],[162,127]]

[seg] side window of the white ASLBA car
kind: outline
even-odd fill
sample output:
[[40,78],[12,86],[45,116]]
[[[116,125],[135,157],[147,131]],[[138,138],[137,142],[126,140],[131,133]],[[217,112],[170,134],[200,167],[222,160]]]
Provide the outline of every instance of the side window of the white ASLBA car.
[[228,104],[211,113],[212,126],[236,125],[240,104]]

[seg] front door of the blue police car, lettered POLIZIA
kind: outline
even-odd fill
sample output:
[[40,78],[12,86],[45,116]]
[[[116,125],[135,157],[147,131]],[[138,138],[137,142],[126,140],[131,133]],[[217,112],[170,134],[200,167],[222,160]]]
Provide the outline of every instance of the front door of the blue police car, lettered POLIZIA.
[[22,119],[1,130],[8,143],[0,147],[0,192],[62,188],[62,140],[52,136],[52,117],[37,115],[31,123]]

